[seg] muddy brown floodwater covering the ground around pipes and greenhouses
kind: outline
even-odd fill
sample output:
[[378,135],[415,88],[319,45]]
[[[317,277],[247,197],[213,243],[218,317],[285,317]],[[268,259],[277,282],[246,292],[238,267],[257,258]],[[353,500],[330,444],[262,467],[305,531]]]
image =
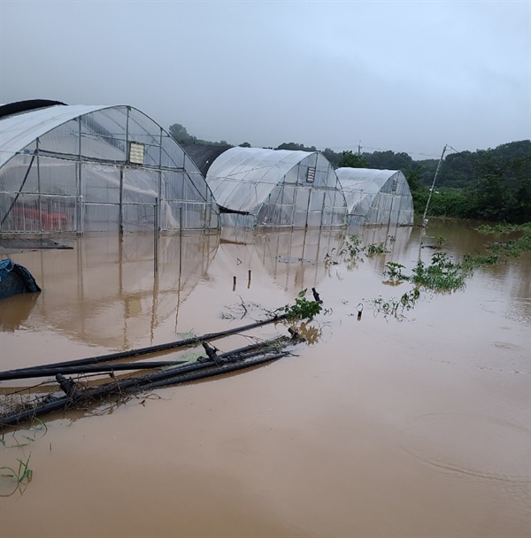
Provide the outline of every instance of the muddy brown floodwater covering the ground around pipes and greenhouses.
[[411,289],[386,263],[409,273],[441,236],[456,260],[491,239],[435,219],[366,229],[390,251],[347,263],[340,232],[161,237],[157,271],[149,235],[10,253],[42,292],[0,303],[2,370],[239,327],[304,288],[326,310],[292,357],[4,432],[0,466],[29,457],[33,479],[1,480],[0,536],[528,538],[531,257],[398,318],[372,302]]

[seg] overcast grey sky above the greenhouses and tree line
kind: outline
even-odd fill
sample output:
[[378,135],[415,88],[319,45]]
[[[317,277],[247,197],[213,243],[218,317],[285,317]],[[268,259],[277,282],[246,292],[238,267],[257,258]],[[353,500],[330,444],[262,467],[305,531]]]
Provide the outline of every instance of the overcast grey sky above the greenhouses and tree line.
[[413,158],[531,138],[531,2],[0,0],[0,102]]

